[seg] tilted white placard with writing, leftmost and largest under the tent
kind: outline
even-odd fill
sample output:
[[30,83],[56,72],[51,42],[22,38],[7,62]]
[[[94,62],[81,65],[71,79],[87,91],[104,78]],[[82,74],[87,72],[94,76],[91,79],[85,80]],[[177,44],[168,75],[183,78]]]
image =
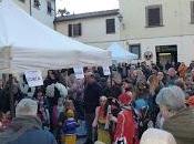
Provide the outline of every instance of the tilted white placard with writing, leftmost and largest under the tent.
[[25,71],[24,75],[30,88],[43,85],[41,71]]

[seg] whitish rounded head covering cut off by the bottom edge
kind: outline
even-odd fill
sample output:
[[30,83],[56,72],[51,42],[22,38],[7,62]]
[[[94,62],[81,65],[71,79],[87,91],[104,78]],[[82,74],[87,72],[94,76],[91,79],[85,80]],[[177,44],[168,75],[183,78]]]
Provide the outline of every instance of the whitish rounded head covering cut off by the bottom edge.
[[176,144],[176,141],[166,131],[149,128],[143,133],[140,144]]

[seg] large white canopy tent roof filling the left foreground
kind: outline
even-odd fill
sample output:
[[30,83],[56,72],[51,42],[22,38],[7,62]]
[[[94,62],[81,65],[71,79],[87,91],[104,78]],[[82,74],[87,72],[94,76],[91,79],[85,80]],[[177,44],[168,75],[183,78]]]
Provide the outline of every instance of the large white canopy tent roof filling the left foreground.
[[43,25],[10,0],[0,2],[0,71],[111,65],[111,53]]

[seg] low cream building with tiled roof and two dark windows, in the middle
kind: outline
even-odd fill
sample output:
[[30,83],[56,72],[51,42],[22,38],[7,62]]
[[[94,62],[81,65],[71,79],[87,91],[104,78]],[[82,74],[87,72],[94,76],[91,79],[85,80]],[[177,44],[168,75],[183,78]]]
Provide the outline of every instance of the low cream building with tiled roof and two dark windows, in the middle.
[[120,41],[119,10],[58,17],[55,30],[85,44],[108,49]]

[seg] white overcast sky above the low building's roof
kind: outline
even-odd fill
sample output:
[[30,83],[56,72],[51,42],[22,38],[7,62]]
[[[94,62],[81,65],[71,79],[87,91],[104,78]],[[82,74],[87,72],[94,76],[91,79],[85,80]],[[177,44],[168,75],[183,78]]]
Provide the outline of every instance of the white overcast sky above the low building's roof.
[[65,8],[70,13],[83,13],[119,8],[119,0],[57,0],[57,9]]

